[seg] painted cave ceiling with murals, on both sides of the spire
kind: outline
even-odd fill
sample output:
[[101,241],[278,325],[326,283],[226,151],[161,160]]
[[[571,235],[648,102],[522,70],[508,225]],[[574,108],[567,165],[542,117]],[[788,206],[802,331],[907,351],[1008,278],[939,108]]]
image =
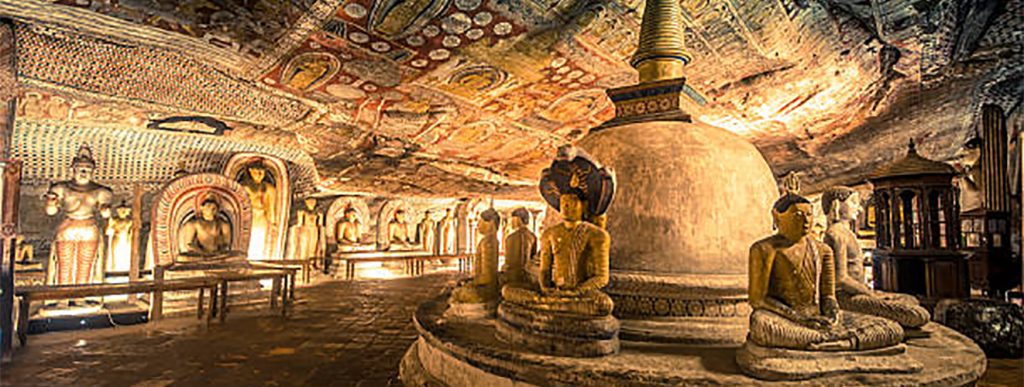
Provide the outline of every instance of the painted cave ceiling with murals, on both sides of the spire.
[[[805,186],[863,179],[907,139],[948,160],[1024,84],[1011,1],[683,0],[686,110]],[[323,188],[534,195],[555,148],[610,119],[642,0],[0,0],[27,121],[300,148]],[[203,133],[209,125],[177,121]],[[202,135],[202,134],[201,134]]]

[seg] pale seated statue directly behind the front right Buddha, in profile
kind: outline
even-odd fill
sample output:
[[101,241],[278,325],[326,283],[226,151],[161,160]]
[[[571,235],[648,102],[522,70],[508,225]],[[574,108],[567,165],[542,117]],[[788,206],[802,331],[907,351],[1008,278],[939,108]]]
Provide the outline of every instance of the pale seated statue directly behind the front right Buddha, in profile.
[[931,319],[913,296],[877,292],[864,285],[864,265],[857,235],[850,225],[860,213],[860,196],[846,186],[834,186],[821,196],[828,217],[824,243],[836,260],[836,297],[843,310],[885,317],[904,328],[920,328]]

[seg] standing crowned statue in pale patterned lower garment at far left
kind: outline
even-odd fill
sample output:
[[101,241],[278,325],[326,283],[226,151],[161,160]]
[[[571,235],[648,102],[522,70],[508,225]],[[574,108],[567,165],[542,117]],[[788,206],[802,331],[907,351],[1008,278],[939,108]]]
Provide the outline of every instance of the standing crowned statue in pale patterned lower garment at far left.
[[94,282],[93,269],[99,257],[100,231],[96,215],[111,216],[111,188],[92,181],[96,162],[87,145],[72,160],[72,179],[50,185],[44,196],[46,215],[63,211],[53,241],[51,265],[56,285],[81,285]]

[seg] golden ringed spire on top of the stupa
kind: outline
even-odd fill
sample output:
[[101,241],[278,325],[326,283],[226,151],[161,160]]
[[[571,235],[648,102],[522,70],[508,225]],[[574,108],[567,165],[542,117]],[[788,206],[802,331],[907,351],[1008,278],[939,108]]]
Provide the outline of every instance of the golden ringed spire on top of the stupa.
[[683,78],[690,55],[683,46],[683,15],[678,0],[646,0],[640,45],[630,66],[640,73],[640,83]]

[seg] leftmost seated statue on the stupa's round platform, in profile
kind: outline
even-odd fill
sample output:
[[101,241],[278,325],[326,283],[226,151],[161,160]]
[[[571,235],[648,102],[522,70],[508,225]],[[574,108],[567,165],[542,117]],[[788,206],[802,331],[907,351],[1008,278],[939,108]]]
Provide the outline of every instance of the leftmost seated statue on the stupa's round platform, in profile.
[[[494,209],[480,214],[476,223],[480,242],[473,255],[473,277],[452,292],[451,304],[494,304],[498,300],[498,227],[501,215]],[[488,306],[493,307],[493,305]]]

